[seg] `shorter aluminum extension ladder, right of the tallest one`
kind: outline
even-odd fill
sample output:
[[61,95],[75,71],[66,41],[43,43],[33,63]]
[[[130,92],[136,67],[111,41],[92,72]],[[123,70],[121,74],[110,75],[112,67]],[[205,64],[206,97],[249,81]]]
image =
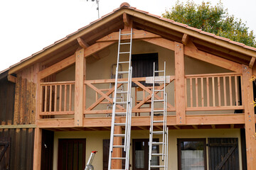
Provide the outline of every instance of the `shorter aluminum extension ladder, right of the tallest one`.
[[[156,77],[156,73],[164,73],[164,76]],[[156,84],[164,84],[164,89],[156,89]],[[163,99],[157,99],[154,96],[155,92],[163,93]],[[154,72],[153,72],[153,89],[151,96],[151,125],[149,129],[149,170],[150,169],[168,169],[168,128],[166,127],[166,103],[167,103],[167,94],[166,94],[166,62],[164,62],[164,70],[156,71],[154,63]],[[157,106],[158,108],[154,108]],[[159,107],[162,107],[159,109]],[[156,117],[159,117],[156,119]],[[161,123],[162,130],[155,130],[156,124]],[[162,142],[153,142],[154,137],[162,137]],[[159,153],[153,153],[153,147],[160,147]],[[162,160],[162,164],[157,164],[157,161],[154,162],[152,158],[159,158]],[[161,159],[160,159],[161,157]]]

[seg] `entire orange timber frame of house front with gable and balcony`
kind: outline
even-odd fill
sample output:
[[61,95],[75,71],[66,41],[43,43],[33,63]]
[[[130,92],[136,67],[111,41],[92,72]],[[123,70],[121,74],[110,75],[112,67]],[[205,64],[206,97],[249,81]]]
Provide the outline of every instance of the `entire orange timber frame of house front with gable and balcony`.
[[[111,117],[106,115],[112,110],[100,105],[113,102],[114,87],[106,88],[106,84],[113,84],[114,79],[92,79],[89,69],[116,51],[120,28],[122,33],[133,28],[132,39],[138,44],[174,52],[174,74],[166,72],[170,78],[166,88],[174,94],[173,102],[167,103],[169,134],[171,130],[245,128],[244,163],[247,169],[255,169],[255,111],[251,104],[254,91],[250,79],[256,72],[256,49],[140,11],[127,3],[1,72],[0,78],[4,75],[16,84],[14,118],[11,122],[1,120],[1,132],[11,128],[33,129],[33,169],[42,168],[43,130],[110,131]],[[113,55],[114,60],[116,57]],[[221,68],[220,72],[188,74],[186,58],[215,65]],[[168,64],[166,67],[171,67]],[[75,79],[59,80],[58,74],[70,67],[74,67]],[[150,116],[146,113],[150,108],[142,106],[150,101],[152,92],[142,81],[146,77],[132,78],[144,93],[142,100],[132,106],[132,130],[149,130]],[[160,93],[155,96],[162,98]],[[119,118],[120,123],[124,121]],[[122,163],[116,161],[114,166],[120,169]]]

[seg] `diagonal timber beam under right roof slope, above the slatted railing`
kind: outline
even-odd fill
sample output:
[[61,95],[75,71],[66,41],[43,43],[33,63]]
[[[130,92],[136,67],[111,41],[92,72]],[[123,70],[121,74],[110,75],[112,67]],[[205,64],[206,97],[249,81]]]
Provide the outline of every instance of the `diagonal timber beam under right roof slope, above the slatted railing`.
[[188,44],[184,47],[184,54],[196,58],[197,60],[202,60],[203,62],[209,62],[210,64],[229,69],[233,72],[242,73],[241,64],[197,50],[191,41],[188,41]]

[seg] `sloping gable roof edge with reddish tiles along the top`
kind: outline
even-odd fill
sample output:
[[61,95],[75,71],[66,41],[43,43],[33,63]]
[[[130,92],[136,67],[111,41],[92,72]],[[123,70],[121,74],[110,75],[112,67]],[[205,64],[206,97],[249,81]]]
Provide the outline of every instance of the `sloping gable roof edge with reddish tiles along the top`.
[[[194,37],[202,38],[202,39],[208,37],[211,43],[218,44],[218,45],[223,46],[223,47],[226,47],[227,45],[233,45],[233,46],[235,45],[233,47],[233,50],[237,47],[238,48],[238,50],[236,50],[237,52],[245,53],[246,55],[256,57],[256,48],[255,47],[250,47],[250,46],[244,45],[240,42],[235,42],[235,41],[230,40],[228,38],[222,38],[218,35],[214,35],[213,33],[207,33],[203,30],[198,29],[198,28],[193,28],[193,27],[187,26],[186,24],[183,24],[183,23],[178,23],[178,22],[175,22],[175,21],[167,19],[167,18],[162,18],[161,16],[156,16],[152,13],[147,12],[147,11],[142,11],[142,10],[139,10],[135,7],[129,6],[128,3],[123,3],[123,4],[121,4],[121,6],[119,6],[119,8],[114,9],[112,12],[107,13],[105,16],[102,16],[101,18],[97,19],[96,21],[92,21],[87,26],[84,26],[84,27],[78,29],[74,33],[70,33],[65,38],[62,38],[60,40],[55,41],[53,44],[48,45],[47,47],[44,47],[42,50],[40,50],[40,51],[32,54],[31,56],[26,57],[25,59],[21,60],[21,62],[18,62],[14,65],[11,65],[11,67],[9,67],[10,70],[12,69],[11,73],[16,72],[18,69],[21,69],[22,66],[20,68],[15,69],[19,65],[21,65],[25,62],[28,62],[29,60],[33,60],[34,57],[36,57],[38,55],[42,55],[44,52],[50,50],[51,48],[55,47],[56,45],[60,45],[62,42],[68,41],[70,38],[73,38],[75,35],[76,36],[81,36],[80,33],[82,33],[82,31],[87,30],[90,27],[95,26],[96,24],[100,25],[99,23],[101,23],[105,19],[107,19],[110,16],[113,16],[114,14],[119,13],[119,12],[120,13],[128,13],[129,15],[131,15],[133,17],[136,17],[136,18],[149,17],[150,19],[157,19],[158,21],[161,21],[161,26],[163,26],[163,27],[168,28],[169,26],[172,26],[172,27],[176,26],[176,31],[187,33],[188,35],[192,35]],[[188,32],[188,31],[190,31],[190,32]],[[241,49],[244,49],[244,50],[241,51]],[[24,64],[24,66],[25,65],[26,64]],[[2,72],[5,72],[5,71],[6,70],[4,70]],[[0,74],[1,74],[1,72],[0,72]]]

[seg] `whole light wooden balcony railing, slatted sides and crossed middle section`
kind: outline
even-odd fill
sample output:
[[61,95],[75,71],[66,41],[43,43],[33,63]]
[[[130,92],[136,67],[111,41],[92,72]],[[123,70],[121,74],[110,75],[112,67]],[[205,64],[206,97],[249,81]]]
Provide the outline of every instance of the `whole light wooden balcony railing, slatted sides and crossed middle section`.
[[[185,103],[186,114],[208,115],[208,111],[218,111],[218,115],[233,115],[236,111],[244,109],[242,105],[242,74],[196,74],[185,76]],[[127,81],[127,79],[120,79]],[[146,77],[133,78],[135,86],[132,88],[133,116],[149,117],[151,87],[144,86],[142,81]],[[118,84],[122,86],[122,84]],[[114,79],[85,80],[83,83],[82,118],[107,118],[112,113],[114,95]],[[140,90],[135,90],[139,88]],[[163,85],[156,86],[163,89]],[[170,77],[166,84],[166,91],[172,95],[168,97],[167,115],[176,116],[175,106],[175,77]],[[75,114],[75,81],[44,82],[40,85],[40,120],[70,119]],[[157,99],[162,99],[163,94],[156,92]],[[124,96],[125,97],[125,96]],[[177,97],[177,96],[176,96]],[[124,107],[117,106],[118,111],[124,111]],[[161,109],[161,108],[157,108]],[[211,113],[211,115],[215,113]]]

